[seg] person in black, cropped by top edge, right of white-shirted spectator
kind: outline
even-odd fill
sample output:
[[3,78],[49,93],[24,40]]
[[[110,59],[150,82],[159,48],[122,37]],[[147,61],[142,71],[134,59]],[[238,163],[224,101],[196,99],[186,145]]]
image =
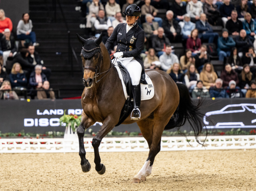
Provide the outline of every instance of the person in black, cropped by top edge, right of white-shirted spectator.
[[220,11],[216,4],[213,4],[213,0],[206,0],[204,4],[204,13],[207,21],[211,25],[222,26],[223,22],[220,16]]

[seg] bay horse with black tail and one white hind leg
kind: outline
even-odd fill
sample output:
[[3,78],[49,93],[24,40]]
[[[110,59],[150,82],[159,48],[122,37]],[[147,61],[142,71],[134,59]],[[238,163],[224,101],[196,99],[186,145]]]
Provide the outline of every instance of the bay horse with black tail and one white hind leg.
[[[79,140],[79,156],[83,172],[91,169],[89,161],[85,158],[83,136],[85,129],[96,122],[101,122],[102,127],[92,140],[95,154],[95,170],[104,174],[106,168],[101,163],[99,146],[103,137],[107,135],[119,122],[121,110],[125,104],[121,80],[113,64],[109,53],[102,42],[102,35],[98,38],[83,39],[77,34],[82,43],[81,52],[83,65],[83,84],[85,88],[81,96],[82,118],[77,127]],[[84,50],[84,51],[83,51]],[[199,104],[194,105],[190,99],[185,85],[176,84],[166,72],[161,70],[146,70],[154,85],[154,97],[142,101],[141,119],[134,121],[128,117],[123,124],[137,123],[143,137],[149,145],[149,155],[142,169],[136,174],[132,183],[145,181],[151,174],[154,158],[160,151],[161,136],[164,129],[183,126],[188,121],[195,132],[198,143],[203,129],[203,114],[200,113]]]

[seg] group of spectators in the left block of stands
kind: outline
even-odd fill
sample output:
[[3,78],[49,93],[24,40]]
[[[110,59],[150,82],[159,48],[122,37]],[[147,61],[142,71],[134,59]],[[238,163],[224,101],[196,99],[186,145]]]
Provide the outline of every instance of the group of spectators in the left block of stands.
[[50,89],[51,69],[43,66],[29,14],[24,13],[13,30],[12,21],[0,9],[0,99],[18,100],[29,93],[32,99],[55,99]]

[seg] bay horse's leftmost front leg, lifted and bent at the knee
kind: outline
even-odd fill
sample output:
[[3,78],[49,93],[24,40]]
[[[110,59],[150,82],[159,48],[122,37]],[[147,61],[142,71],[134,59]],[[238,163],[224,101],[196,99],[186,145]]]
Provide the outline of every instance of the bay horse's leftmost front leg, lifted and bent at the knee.
[[84,111],[82,112],[81,124],[77,127],[77,136],[79,141],[79,156],[81,158],[81,168],[83,172],[89,172],[91,165],[89,161],[85,158],[85,149],[83,144],[83,136],[85,129],[91,127],[95,122],[91,120]]

